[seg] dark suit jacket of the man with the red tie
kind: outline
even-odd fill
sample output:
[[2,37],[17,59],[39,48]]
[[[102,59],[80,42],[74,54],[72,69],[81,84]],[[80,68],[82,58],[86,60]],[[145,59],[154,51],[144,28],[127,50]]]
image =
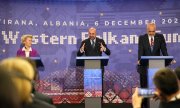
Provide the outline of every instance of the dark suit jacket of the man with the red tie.
[[148,35],[139,36],[138,60],[141,56],[160,56],[160,52],[163,56],[168,56],[166,42],[162,34],[155,34],[153,52],[151,52]]

